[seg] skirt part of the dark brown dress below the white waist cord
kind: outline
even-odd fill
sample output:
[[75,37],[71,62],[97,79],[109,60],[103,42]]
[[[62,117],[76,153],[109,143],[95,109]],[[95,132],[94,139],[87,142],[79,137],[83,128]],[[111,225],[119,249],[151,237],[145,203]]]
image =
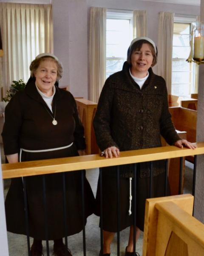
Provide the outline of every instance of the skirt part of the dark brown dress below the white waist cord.
[[[55,152],[23,152],[22,161],[32,161],[49,158],[60,158],[78,155],[73,145]],[[68,236],[79,233],[82,223],[82,172],[85,170],[65,173],[66,184],[66,219],[63,207],[62,173],[45,175],[46,207],[48,221],[48,239],[54,240],[65,236],[65,220]],[[45,240],[45,207],[43,204],[42,175],[26,177],[27,203],[29,219],[29,236]],[[85,190],[85,222],[94,211],[94,195],[90,184],[84,178]],[[22,178],[13,178],[5,202],[7,230],[12,233],[26,235],[25,206],[23,199]]]

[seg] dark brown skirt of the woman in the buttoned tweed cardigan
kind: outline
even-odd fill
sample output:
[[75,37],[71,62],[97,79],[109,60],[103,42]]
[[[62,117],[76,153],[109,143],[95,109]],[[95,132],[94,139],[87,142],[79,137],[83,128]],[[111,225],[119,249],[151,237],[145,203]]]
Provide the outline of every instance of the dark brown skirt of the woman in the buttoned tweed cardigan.
[[[105,171],[105,172],[104,172]],[[115,173],[115,177],[113,177]],[[119,230],[133,225],[133,201],[134,201],[134,178],[132,179],[132,214],[129,216],[130,207],[130,181],[129,178],[119,178],[120,183],[120,221]],[[167,186],[169,195],[169,186]],[[150,198],[150,178],[141,178],[139,168],[137,169],[136,181],[136,226],[140,230],[144,230],[144,211],[145,201]],[[152,197],[160,197],[165,195],[165,173],[161,173],[153,177],[153,195]],[[103,214],[103,230],[109,232],[117,232],[117,178],[116,167],[102,168],[102,214]],[[96,193],[96,210],[95,214],[100,216],[100,186],[98,181]],[[101,226],[101,221],[99,226]]]

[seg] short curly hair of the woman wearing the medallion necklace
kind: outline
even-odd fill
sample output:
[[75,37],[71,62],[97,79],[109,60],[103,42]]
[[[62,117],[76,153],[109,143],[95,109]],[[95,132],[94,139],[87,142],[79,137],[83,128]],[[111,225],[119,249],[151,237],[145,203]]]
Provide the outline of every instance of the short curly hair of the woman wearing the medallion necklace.
[[57,64],[57,81],[59,81],[62,78],[62,72],[63,72],[62,64],[51,56],[43,56],[41,58],[34,59],[31,62],[31,65],[30,65],[31,77],[35,77],[34,73],[36,72],[37,68],[40,66],[40,63],[46,59],[52,59]]

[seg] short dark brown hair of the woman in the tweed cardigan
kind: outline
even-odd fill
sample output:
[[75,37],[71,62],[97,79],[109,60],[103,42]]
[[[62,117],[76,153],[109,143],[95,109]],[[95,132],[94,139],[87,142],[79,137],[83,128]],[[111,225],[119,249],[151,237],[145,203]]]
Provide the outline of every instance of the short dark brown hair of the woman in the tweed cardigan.
[[135,43],[133,43],[133,45],[130,47],[130,49],[128,49],[127,62],[130,64],[130,66],[131,66],[131,55],[133,54],[134,51],[136,51],[136,50],[139,51],[142,48],[142,45],[144,43],[147,43],[150,46],[150,50],[151,50],[152,55],[153,55],[152,66],[156,65],[156,63],[157,63],[157,54],[155,52],[155,49],[154,49],[153,45],[149,41],[142,39],[142,40],[138,40]]

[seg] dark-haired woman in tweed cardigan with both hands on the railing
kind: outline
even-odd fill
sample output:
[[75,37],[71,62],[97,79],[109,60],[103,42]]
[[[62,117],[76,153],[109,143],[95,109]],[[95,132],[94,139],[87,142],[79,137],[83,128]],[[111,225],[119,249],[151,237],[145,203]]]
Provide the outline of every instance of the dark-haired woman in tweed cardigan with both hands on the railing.
[[[119,157],[120,151],[160,147],[161,135],[170,145],[194,148],[188,141],[178,137],[173,126],[168,109],[166,83],[152,71],[157,61],[156,55],[157,48],[153,40],[148,37],[133,39],[122,70],[111,75],[105,82],[94,117],[94,129],[96,141],[106,158]],[[150,163],[147,162],[138,164],[136,176],[133,165],[118,167],[119,228],[123,230],[130,227],[125,256],[138,255],[133,252],[135,241],[132,200],[136,201],[137,240],[140,230],[144,230],[145,200],[150,196],[149,166]],[[153,197],[164,196],[164,170],[164,162],[154,161]],[[132,186],[134,181],[136,198]],[[117,168],[102,168],[102,191],[99,184],[100,182],[96,193],[96,214],[100,215],[102,210],[104,236],[103,252],[99,256],[110,256],[111,242],[117,231]],[[103,198],[102,209],[100,198]]]

